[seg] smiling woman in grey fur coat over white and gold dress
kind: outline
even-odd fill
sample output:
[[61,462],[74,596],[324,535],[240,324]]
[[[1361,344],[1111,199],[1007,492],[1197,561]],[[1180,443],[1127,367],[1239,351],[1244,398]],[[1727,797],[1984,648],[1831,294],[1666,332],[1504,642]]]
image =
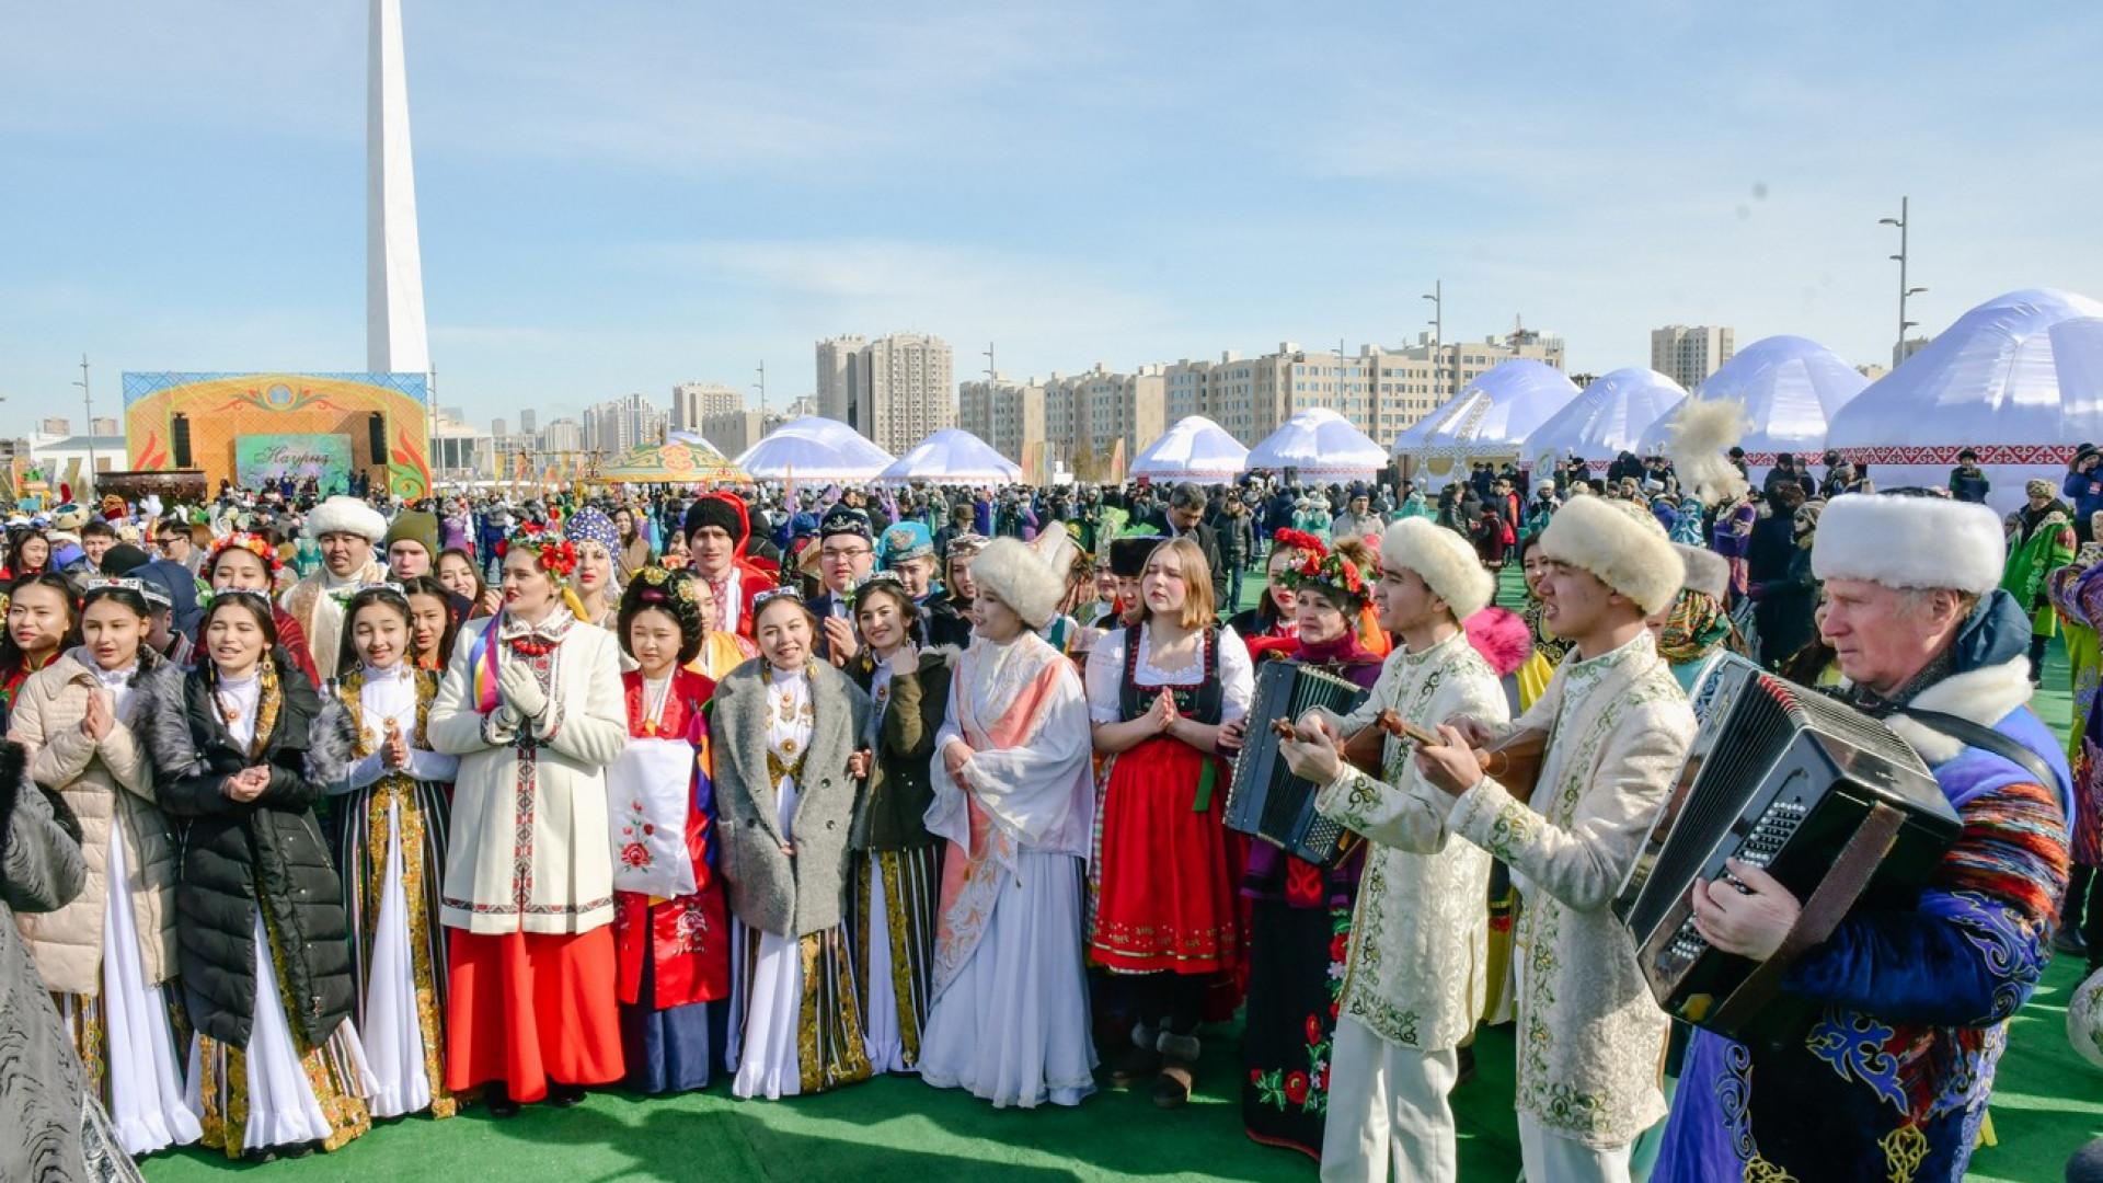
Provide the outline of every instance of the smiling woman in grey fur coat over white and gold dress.
[[869,1080],[845,924],[848,827],[869,751],[869,697],[812,661],[795,592],[753,600],[759,657],[715,686],[715,810],[730,884],[730,1095]]

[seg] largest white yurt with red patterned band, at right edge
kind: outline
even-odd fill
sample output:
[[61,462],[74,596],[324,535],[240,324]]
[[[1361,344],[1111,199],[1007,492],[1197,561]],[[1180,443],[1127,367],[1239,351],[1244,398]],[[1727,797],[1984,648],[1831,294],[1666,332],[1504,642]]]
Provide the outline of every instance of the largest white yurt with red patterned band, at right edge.
[[2057,488],[2082,440],[2103,440],[2103,303],[2048,288],[1966,312],[1825,434],[1878,488],[1943,486],[1973,448],[2002,512],[2023,503],[2025,480]]

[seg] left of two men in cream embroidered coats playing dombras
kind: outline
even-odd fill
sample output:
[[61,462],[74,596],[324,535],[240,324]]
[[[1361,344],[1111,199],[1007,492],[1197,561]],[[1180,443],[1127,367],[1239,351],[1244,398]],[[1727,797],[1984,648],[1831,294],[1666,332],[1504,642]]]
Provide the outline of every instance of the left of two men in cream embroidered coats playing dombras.
[[1329,1059],[1321,1177],[1455,1177],[1457,1046],[1483,1012],[1489,855],[1449,840],[1451,800],[1426,785],[1405,741],[1386,741],[1380,777],[1338,758],[1384,709],[1430,726],[1468,714],[1504,722],[1504,688],[1459,621],[1495,585],[1459,535],[1426,518],[1380,539],[1380,627],[1401,638],[1348,718],[1308,711],[1281,754],[1321,787],[1316,808],[1371,842],[1352,916],[1344,996]]

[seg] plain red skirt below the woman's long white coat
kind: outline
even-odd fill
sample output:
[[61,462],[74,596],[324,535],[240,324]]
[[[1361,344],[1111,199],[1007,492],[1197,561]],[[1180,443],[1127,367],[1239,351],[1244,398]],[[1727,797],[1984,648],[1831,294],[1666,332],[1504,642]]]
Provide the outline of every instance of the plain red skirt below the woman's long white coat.
[[547,1082],[620,1080],[614,930],[450,933],[446,1088],[501,1080],[513,1101],[540,1101]]

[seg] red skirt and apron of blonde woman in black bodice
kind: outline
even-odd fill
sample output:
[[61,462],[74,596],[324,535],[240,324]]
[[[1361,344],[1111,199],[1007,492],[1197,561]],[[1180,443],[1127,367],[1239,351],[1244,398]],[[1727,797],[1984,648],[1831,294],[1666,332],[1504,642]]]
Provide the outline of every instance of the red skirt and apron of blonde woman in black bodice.
[[[1213,766],[1211,802],[1195,810]],[[1102,897],[1089,951],[1119,973],[1241,970],[1245,947],[1239,844],[1220,817],[1230,768],[1180,739],[1157,737],[1110,766],[1102,798]]]

